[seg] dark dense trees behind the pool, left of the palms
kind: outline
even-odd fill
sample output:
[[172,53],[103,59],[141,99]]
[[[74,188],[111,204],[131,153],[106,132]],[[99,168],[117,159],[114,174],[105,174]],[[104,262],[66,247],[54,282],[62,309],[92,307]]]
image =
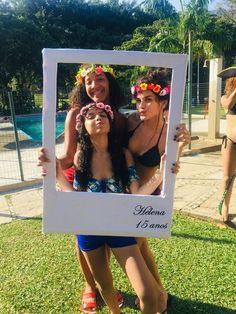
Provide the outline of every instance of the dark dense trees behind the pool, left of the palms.
[[112,49],[153,19],[118,1],[0,0],[0,87],[40,86],[45,47]]

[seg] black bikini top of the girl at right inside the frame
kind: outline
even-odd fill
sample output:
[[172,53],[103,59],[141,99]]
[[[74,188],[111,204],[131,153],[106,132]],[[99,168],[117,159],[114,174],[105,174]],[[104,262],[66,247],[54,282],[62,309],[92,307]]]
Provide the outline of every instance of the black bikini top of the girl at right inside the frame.
[[[132,131],[128,132],[128,137],[131,138],[136,129],[141,125],[140,122]],[[165,123],[163,123],[160,135],[158,137],[157,143],[151,147],[148,151],[143,153],[142,155],[136,156],[136,159],[140,162],[141,165],[145,167],[156,167],[160,165],[161,162],[161,154],[158,148],[158,144],[160,142],[160,138],[164,129]]]

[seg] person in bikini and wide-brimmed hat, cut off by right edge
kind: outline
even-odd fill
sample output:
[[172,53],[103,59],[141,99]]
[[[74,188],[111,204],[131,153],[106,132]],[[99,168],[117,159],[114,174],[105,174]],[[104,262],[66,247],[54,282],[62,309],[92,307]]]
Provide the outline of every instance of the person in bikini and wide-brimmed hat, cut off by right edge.
[[225,94],[221,104],[226,112],[227,129],[222,142],[223,178],[221,181],[221,220],[229,220],[229,203],[236,176],[236,66],[224,69],[218,76],[226,79]]

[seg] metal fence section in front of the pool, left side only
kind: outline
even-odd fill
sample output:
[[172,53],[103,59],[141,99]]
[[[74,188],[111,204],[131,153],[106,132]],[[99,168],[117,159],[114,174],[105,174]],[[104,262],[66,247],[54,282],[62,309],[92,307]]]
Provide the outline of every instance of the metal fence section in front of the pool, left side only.
[[[64,96],[58,98],[58,109],[62,103]],[[36,163],[42,145],[42,93],[2,91],[0,113],[0,190],[41,179]],[[64,125],[65,116],[60,113],[60,124]],[[62,153],[62,145],[58,140],[57,154]]]

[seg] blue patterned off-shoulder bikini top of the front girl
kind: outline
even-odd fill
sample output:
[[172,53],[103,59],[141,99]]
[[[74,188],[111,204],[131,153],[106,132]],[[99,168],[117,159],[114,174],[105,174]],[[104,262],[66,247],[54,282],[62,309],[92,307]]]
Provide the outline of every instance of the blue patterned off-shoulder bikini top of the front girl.
[[[80,170],[75,170],[73,187],[75,190],[80,188]],[[133,181],[139,180],[136,169],[134,166],[128,167],[128,185]],[[122,185],[121,180],[117,181],[114,177],[106,180],[98,180],[95,178],[90,178],[88,180],[88,185],[86,192],[101,192],[101,193],[125,193],[125,189]]]

